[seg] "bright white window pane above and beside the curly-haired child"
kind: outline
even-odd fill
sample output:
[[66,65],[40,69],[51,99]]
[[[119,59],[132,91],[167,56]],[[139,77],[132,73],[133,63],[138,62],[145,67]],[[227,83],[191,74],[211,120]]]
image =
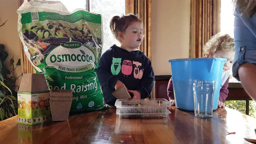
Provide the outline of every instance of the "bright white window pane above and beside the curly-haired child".
[[[221,32],[231,37],[234,37],[233,7],[232,0],[221,0]],[[232,76],[232,68],[228,72],[230,73],[229,82],[239,82]]]

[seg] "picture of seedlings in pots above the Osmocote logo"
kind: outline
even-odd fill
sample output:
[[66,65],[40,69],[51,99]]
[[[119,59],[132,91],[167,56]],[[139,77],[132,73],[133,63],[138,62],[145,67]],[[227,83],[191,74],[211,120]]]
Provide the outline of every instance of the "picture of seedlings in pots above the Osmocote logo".
[[[84,22],[81,22],[81,28],[79,27],[79,24],[56,24],[54,21],[50,20],[46,25],[41,25],[37,22],[32,22],[30,25],[34,24],[34,26],[30,26],[31,28],[29,25],[25,25],[22,35],[24,41],[32,46],[28,49],[32,63],[35,66],[38,66],[40,63],[43,63],[43,57],[40,57],[39,53],[45,56],[50,53],[51,50],[60,46],[60,44],[69,41],[80,42],[82,45],[90,47],[91,49],[96,49],[96,44],[99,47],[102,47],[101,38],[98,38],[91,33]],[[35,50],[33,48],[35,48]],[[99,52],[101,53],[101,51]]]

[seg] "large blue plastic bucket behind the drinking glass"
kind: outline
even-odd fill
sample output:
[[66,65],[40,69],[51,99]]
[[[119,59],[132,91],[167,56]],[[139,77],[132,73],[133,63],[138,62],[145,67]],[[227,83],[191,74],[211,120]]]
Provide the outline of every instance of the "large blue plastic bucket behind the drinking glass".
[[213,110],[218,108],[224,62],[222,58],[170,59],[175,105],[178,109],[194,111],[194,80],[215,81]]

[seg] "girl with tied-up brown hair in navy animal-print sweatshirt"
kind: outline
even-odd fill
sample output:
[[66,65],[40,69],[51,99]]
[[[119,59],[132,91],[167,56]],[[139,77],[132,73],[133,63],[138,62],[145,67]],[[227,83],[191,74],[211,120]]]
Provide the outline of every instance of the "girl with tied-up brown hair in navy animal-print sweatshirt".
[[140,50],[143,40],[143,23],[135,15],[114,16],[110,29],[121,47],[113,45],[105,51],[97,75],[106,104],[115,105],[112,93],[123,84],[133,99],[147,98],[153,88],[154,72],[151,62]]

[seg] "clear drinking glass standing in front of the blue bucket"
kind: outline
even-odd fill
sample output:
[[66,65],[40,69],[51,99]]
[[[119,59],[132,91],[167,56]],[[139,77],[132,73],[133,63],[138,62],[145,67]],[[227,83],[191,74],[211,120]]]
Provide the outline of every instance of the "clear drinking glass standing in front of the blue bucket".
[[195,116],[211,118],[213,113],[215,81],[194,80],[193,91]]

